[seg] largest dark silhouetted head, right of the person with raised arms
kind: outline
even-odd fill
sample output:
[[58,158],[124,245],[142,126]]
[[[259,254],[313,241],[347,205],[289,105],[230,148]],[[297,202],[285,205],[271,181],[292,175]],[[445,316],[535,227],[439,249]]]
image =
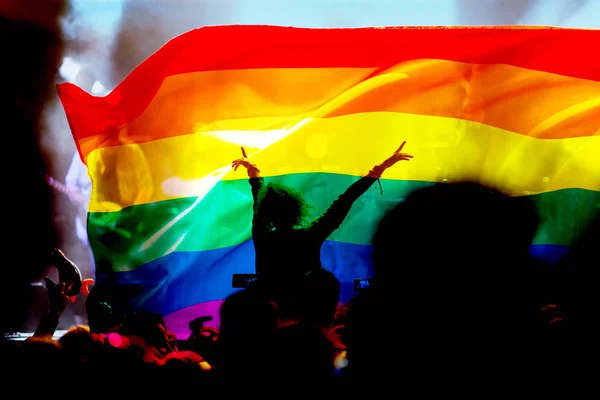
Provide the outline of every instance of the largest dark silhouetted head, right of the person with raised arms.
[[401,296],[404,312],[410,302],[415,316],[440,324],[484,327],[484,315],[506,326],[532,320],[539,304],[529,246],[537,227],[527,197],[469,182],[417,190],[375,234],[375,286]]

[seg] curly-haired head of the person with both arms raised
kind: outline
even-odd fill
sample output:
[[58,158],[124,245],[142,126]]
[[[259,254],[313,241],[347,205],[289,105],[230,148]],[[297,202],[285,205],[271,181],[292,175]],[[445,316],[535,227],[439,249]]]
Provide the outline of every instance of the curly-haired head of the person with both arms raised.
[[298,191],[269,183],[258,194],[257,217],[273,229],[287,230],[302,224],[310,206]]

